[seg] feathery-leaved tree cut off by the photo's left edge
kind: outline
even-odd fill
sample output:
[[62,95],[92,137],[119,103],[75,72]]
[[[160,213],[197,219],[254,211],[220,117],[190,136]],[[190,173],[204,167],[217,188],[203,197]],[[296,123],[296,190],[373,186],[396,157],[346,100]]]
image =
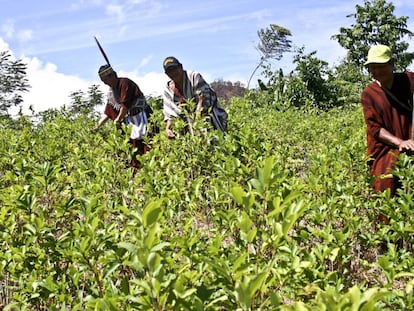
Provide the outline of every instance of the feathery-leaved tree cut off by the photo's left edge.
[[12,106],[23,102],[22,92],[29,89],[26,64],[11,60],[8,51],[0,52],[0,115],[8,116]]

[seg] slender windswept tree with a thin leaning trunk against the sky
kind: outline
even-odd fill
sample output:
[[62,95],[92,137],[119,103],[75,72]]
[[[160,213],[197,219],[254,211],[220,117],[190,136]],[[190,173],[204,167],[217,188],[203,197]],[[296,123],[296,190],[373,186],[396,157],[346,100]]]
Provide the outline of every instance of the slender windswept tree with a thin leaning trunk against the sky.
[[289,52],[292,47],[291,40],[288,39],[292,36],[290,30],[281,26],[270,24],[268,28],[260,29],[257,32],[259,36],[259,43],[257,49],[261,53],[260,62],[253,70],[249,81],[247,82],[247,89],[249,88],[250,81],[253,78],[256,70],[268,59],[274,58],[280,60],[285,52]]

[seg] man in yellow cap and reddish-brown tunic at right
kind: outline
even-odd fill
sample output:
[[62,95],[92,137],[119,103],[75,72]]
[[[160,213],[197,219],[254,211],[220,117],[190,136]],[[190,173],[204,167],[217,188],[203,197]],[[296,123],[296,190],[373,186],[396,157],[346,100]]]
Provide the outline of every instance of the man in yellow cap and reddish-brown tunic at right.
[[414,74],[394,73],[394,59],[386,45],[372,46],[365,66],[373,78],[361,96],[373,188],[377,192],[390,189],[394,195],[399,185],[391,169],[401,152],[414,150]]

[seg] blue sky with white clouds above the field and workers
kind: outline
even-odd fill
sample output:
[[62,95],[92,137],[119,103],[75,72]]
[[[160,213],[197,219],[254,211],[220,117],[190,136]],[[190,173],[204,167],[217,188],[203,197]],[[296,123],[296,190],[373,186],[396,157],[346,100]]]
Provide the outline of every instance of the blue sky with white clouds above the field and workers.
[[[393,1],[395,14],[409,16],[414,1]],[[159,95],[167,80],[165,57],[176,56],[185,69],[207,81],[247,84],[260,54],[257,31],[278,24],[292,32],[295,46],[331,65],[345,51],[330,37],[354,22],[346,16],[364,1],[343,0],[0,0],[0,50],[28,64],[31,91],[25,105],[35,110],[68,104],[72,91],[100,84],[104,60],[97,36],[112,66],[132,78],[146,95]],[[410,41],[412,42],[412,41]],[[410,46],[412,50],[414,42]],[[290,70],[286,56],[275,68]],[[255,76],[257,80],[258,76]],[[102,90],[106,87],[102,85]]]

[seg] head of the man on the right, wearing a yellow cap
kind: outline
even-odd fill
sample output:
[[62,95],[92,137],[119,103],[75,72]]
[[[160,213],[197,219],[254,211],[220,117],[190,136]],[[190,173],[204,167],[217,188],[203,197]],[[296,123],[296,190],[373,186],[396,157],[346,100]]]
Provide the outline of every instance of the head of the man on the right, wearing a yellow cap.
[[382,44],[372,46],[368,51],[367,66],[371,76],[381,83],[388,81],[394,71],[394,58],[391,49]]

